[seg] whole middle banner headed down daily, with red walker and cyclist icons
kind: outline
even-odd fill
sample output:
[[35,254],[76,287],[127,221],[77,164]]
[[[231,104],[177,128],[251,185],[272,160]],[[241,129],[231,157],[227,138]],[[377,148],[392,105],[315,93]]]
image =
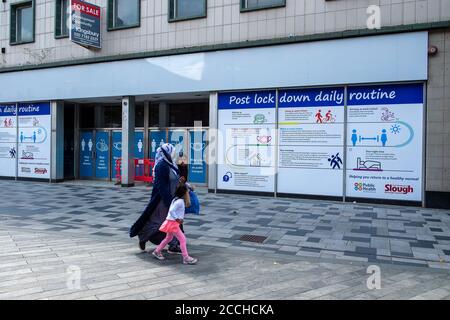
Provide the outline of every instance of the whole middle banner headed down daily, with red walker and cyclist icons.
[[278,93],[278,190],[343,196],[343,87]]

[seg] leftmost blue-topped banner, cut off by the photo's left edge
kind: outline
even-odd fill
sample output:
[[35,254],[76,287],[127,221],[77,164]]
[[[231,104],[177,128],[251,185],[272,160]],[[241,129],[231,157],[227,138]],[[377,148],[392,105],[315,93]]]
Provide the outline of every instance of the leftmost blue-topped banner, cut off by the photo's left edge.
[[0,105],[0,176],[16,176],[17,159],[16,105]]

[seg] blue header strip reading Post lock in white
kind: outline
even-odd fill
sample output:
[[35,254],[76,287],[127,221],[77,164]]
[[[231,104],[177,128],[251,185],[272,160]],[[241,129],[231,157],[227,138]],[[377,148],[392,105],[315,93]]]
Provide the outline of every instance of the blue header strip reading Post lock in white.
[[219,94],[219,110],[275,108],[276,91],[226,92]]

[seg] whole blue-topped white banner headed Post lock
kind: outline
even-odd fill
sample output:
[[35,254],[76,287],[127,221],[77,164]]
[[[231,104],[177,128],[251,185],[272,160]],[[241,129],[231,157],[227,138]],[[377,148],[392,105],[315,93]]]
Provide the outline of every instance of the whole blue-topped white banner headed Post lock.
[[219,94],[219,189],[275,191],[276,91]]

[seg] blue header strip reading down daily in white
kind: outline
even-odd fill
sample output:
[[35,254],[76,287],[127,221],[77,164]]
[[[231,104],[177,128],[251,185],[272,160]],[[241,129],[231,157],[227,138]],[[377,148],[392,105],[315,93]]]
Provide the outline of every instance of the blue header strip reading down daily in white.
[[344,88],[280,90],[278,107],[344,106]]

